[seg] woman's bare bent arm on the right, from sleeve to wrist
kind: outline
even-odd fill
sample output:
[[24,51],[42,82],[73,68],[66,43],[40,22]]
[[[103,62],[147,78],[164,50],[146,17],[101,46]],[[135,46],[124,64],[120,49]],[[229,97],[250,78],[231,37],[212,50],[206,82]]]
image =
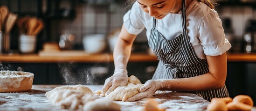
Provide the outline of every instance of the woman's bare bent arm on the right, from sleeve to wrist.
[[171,91],[206,91],[220,89],[227,77],[226,53],[220,56],[207,56],[209,72],[191,78],[163,80],[161,90]]

